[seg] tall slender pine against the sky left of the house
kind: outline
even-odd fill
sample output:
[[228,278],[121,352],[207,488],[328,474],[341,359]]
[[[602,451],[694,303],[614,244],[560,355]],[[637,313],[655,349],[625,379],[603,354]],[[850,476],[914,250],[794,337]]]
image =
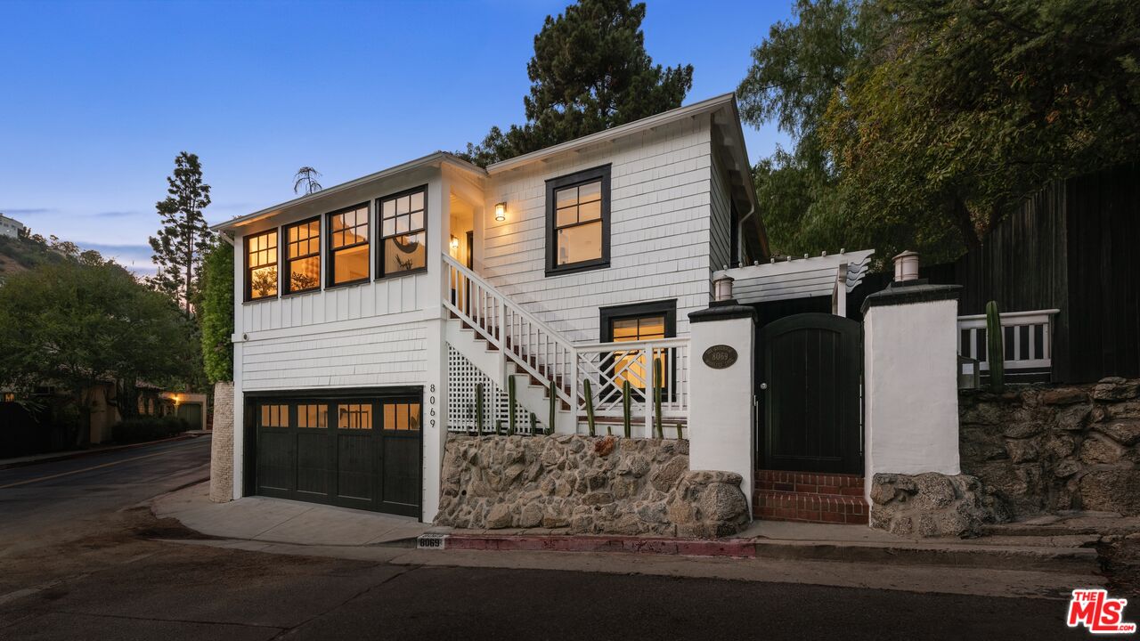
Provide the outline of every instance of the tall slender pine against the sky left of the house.
[[152,282],[189,315],[202,277],[202,258],[213,241],[202,214],[210,204],[210,186],[202,181],[198,156],[186,152],[174,159],[174,173],[166,182],[169,195],[155,205],[162,228],[150,237],[152,260],[158,266]]

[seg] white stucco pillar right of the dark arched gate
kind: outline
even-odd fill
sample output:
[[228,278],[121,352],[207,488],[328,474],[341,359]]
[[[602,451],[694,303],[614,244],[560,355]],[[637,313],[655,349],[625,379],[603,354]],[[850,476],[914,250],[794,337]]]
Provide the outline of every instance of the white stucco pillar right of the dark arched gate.
[[868,496],[878,472],[961,472],[956,375],[960,289],[917,281],[894,283],[863,303]]

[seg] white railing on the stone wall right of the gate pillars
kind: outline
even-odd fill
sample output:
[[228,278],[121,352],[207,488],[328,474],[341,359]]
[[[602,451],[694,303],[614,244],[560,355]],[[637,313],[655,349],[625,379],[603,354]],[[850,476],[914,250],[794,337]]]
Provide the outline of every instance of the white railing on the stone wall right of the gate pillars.
[[[1048,372],[1052,367],[1051,320],[1058,309],[1007,311],[1001,315],[1002,342],[1007,372],[1033,370]],[[958,354],[990,370],[986,355],[986,315],[958,317]]]

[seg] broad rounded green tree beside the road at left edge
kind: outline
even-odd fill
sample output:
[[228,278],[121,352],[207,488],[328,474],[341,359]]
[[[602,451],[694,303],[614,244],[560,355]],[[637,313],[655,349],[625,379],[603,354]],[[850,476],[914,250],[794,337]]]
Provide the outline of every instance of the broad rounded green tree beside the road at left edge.
[[0,287],[0,386],[66,391],[90,436],[91,393],[114,382],[124,416],[136,384],[185,380],[194,362],[192,323],[164,294],[95,252],[15,274]]

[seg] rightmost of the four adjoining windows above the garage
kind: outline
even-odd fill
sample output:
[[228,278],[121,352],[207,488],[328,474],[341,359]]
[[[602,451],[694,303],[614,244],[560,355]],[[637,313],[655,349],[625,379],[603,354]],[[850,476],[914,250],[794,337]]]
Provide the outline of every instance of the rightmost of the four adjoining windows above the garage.
[[427,189],[380,198],[377,277],[427,269]]

